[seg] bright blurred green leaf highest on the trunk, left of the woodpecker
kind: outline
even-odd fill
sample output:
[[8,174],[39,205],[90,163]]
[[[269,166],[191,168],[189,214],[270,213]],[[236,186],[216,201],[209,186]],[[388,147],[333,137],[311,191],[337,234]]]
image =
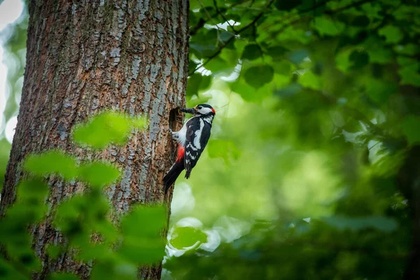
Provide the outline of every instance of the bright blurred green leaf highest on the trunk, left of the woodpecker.
[[87,144],[94,148],[104,148],[111,142],[123,144],[132,123],[120,113],[105,112],[94,116],[90,122],[78,125],[73,131],[73,138],[79,144]]

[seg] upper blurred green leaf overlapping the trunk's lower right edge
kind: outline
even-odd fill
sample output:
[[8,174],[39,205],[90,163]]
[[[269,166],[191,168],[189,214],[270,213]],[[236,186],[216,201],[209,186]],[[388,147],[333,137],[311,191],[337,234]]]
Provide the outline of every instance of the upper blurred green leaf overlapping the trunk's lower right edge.
[[135,207],[123,218],[121,225],[125,236],[159,237],[166,225],[165,207]]

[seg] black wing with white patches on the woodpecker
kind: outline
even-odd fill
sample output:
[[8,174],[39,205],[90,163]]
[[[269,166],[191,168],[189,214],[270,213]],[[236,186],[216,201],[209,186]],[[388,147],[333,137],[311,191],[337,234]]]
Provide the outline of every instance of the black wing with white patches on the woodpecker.
[[186,179],[190,177],[191,170],[197,164],[209,141],[210,130],[211,125],[202,118],[193,118],[187,124],[186,153],[184,155]]

